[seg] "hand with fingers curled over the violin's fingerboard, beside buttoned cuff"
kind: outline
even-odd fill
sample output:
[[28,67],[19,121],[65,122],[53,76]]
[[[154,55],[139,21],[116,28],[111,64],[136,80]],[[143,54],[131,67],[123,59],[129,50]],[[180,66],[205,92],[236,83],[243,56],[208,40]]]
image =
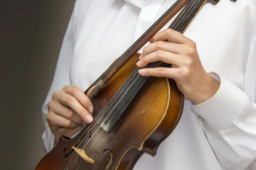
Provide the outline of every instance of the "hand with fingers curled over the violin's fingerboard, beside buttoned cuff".
[[216,94],[220,83],[204,70],[195,42],[172,29],[161,31],[150,42],[143,49],[138,67],[162,61],[172,64],[172,68],[143,68],[139,70],[140,75],[174,79],[185,99],[196,105]]

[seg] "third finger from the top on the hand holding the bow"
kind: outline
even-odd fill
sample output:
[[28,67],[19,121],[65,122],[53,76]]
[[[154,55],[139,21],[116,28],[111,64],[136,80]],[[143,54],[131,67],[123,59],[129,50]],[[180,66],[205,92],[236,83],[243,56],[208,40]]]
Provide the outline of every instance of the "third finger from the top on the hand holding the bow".
[[81,117],[76,112],[74,112],[72,109],[67,108],[64,105],[61,105],[58,102],[55,102],[52,105],[55,105],[54,107],[51,107],[52,111],[54,113],[56,113],[60,116],[63,116],[67,119],[70,119],[72,122],[76,123],[77,125],[80,125],[80,126],[85,125],[85,122],[83,121],[83,119],[81,119]]

